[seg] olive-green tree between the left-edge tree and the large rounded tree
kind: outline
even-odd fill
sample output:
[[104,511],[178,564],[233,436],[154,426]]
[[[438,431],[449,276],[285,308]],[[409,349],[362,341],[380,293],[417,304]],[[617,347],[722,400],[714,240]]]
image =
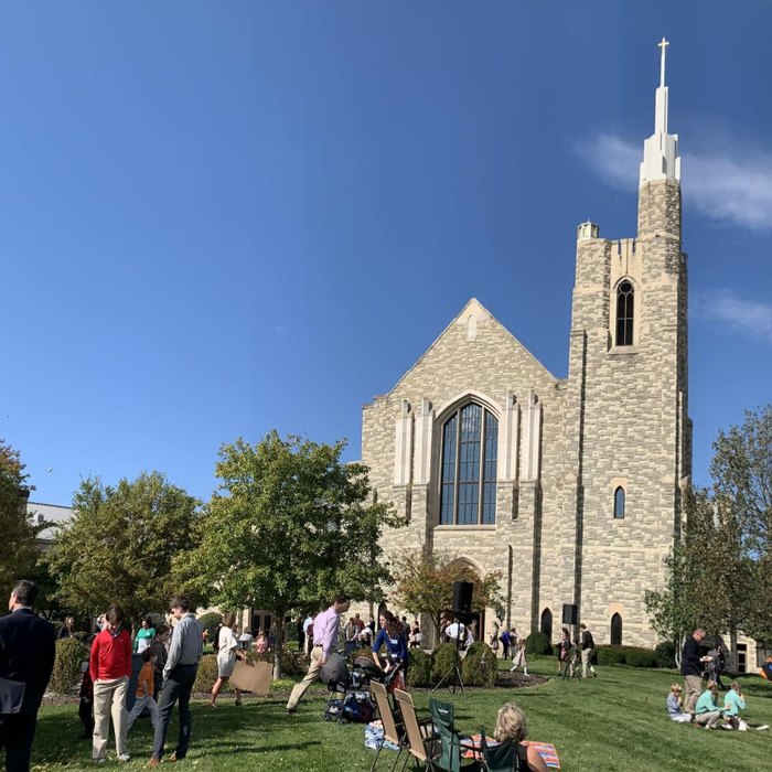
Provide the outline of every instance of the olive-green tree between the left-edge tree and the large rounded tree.
[[84,480],[47,556],[60,601],[92,614],[118,603],[135,622],[165,610],[178,591],[172,559],[196,546],[197,505],[161,472],[115,487]]

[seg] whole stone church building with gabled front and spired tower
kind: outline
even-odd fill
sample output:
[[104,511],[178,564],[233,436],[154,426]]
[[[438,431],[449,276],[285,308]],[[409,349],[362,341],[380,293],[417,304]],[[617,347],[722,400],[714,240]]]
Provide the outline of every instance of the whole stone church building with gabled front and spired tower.
[[384,534],[386,553],[498,571],[504,624],[521,634],[555,641],[569,604],[596,643],[657,640],[643,596],[664,581],[691,473],[680,159],[660,45],[637,233],[577,229],[568,377],[472,299],[363,409],[371,484],[406,518]]

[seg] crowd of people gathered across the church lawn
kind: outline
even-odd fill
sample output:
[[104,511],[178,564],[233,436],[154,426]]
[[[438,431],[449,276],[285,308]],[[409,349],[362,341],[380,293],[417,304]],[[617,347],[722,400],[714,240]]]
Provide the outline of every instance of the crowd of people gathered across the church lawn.
[[[35,733],[36,717],[54,666],[56,641],[75,635],[74,619],[67,616],[58,632],[37,616],[32,607],[37,594],[33,581],[21,580],[13,588],[9,601],[9,614],[0,618],[0,752],[4,751],[8,772],[28,772]],[[418,620],[409,623],[406,616],[397,616],[386,608],[378,612],[378,622],[369,616],[365,622],[358,613],[346,618],[350,599],[334,597],[330,605],[315,615],[298,621],[298,646],[308,658],[308,672],[294,685],[286,710],[294,714],[309,687],[322,676],[323,668],[342,650],[350,655],[364,647],[372,653],[377,671],[389,674],[388,691],[396,696],[407,693],[407,666],[409,650],[422,647],[425,637]],[[167,735],[174,706],[179,712],[179,736],[169,761],[180,761],[189,751],[192,736],[190,700],[196,679],[204,645],[210,637],[195,616],[194,609],[183,594],[171,599],[170,616],[146,616],[136,633],[125,626],[125,614],[119,605],[111,605],[96,620],[97,631],[90,639],[87,663],[84,663],[78,715],[84,727],[84,738],[92,741],[92,759],[104,764],[108,758],[110,725],[118,761],[130,759],[128,735],[135,721],[146,711],[152,725],[152,750],[147,768],[158,766],[164,758]],[[163,619],[163,622],[158,620]],[[236,663],[246,660],[249,651],[265,654],[277,645],[277,633],[248,629],[239,630],[237,616],[226,612],[215,630],[211,643],[216,652],[217,678],[207,698],[211,708],[217,707],[223,686],[234,675]],[[465,623],[458,615],[441,619],[440,641],[454,643],[463,652],[480,637],[476,621]],[[723,695],[721,682],[722,653],[720,644],[703,654],[705,632],[695,630],[684,644],[679,683],[671,686],[666,697],[669,718],[705,729],[732,729],[747,731],[749,723],[742,715],[747,709],[746,696],[740,684],[732,680]],[[512,661],[510,671],[523,671],[527,680],[528,663],[525,637],[516,629],[494,624],[489,645],[498,655]],[[556,673],[562,678],[597,677],[592,660],[594,641],[585,624],[571,640],[568,628],[562,628],[556,647]],[[127,710],[127,696],[132,675],[132,657],[141,660],[137,676],[131,710]],[[770,671],[772,675],[772,663]],[[707,685],[703,688],[703,682]],[[235,689],[235,705],[242,705],[242,691]],[[398,712],[398,711],[397,711]],[[766,729],[758,726],[755,729]],[[535,744],[526,741],[527,727],[523,711],[513,703],[504,705],[497,714],[492,743],[512,743],[522,761],[519,769],[544,772],[548,769],[545,758]],[[514,757],[513,757],[514,758]],[[514,763],[514,762],[513,762]],[[484,769],[484,766],[480,768]]]

